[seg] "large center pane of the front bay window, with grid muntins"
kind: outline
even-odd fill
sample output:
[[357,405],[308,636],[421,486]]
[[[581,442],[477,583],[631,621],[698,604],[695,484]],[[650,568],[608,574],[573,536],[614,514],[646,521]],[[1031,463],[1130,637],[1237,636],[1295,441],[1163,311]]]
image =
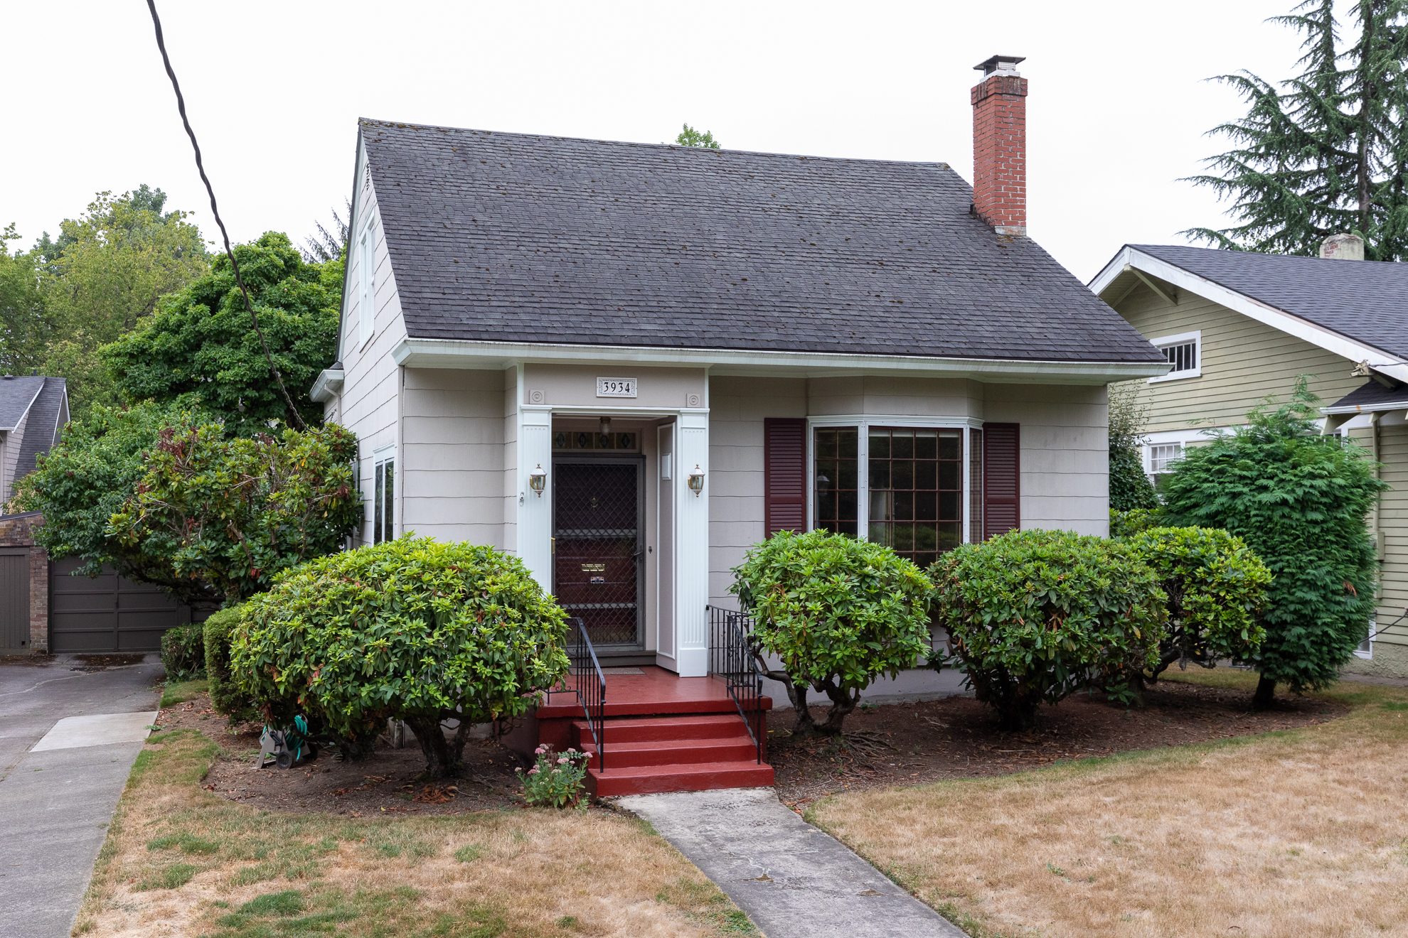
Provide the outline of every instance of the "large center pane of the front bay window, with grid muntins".
[[928,567],[963,543],[963,430],[870,428],[866,540]]

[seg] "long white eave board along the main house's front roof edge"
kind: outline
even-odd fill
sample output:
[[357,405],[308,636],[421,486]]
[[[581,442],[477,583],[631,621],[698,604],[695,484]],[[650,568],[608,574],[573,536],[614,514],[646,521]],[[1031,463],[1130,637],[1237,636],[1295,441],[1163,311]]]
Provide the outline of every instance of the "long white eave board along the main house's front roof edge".
[[832,377],[893,374],[976,378],[1004,384],[1110,384],[1167,373],[1167,361],[1019,361],[1008,359],[934,359],[921,356],[831,354],[738,349],[652,349],[566,343],[401,339],[391,360],[413,368],[507,368],[515,363],[634,363],[703,367],[718,375]]

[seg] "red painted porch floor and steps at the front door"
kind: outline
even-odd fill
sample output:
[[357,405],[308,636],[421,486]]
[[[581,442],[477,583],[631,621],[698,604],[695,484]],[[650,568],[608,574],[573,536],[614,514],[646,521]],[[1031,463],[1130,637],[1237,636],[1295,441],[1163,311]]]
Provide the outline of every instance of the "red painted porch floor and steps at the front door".
[[[543,720],[570,720],[572,744],[593,755],[587,786],[594,795],[773,783],[773,766],[759,762],[748,724],[722,681],[680,678],[655,667],[641,671],[605,675],[604,754],[597,752],[576,695],[553,693],[551,705],[538,707],[541,728]],[[570,679],[567,686],[574,686]],[[773,706],[770,698],[760,703],[765,710]]]

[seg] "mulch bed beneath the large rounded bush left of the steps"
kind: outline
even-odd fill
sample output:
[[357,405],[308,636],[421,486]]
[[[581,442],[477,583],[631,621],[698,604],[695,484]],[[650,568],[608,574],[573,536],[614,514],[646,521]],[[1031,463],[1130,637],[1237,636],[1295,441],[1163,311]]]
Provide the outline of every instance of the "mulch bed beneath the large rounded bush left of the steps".
[[[191,727],[220,747],[220,757],[206,776],[206,790],[232,802],[276,811],[325,811],[348,817],[373,814],[465,814],[522,807],[518,761],[493,740],[472,740],[465,747],[466,775],[448,782],[417,780],[425,757],[414,740],[406,748],[379,745],[362,762],[338,761],[327,750],[317,759],[291,769],[255,769],[262,727],[246,723],[234,728],[210,709],[210,696],[162,710],[163,730]],[[407,734],[408,735],[408,734]]]

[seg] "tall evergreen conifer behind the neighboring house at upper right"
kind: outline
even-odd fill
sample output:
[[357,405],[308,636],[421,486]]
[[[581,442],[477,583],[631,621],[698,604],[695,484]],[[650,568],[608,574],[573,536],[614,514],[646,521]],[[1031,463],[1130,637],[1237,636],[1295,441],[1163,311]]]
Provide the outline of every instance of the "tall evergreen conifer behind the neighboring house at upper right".
[[1408,0],[1353,0],[1352,42],[1333,0],[1305,0],[1273,23],[1304,34],[1301,73],[1276,84],[1239,72],[1217,80],[1249,104],[1212,129],[1233,149],[1190,181],[1232,201],[1231,228],[1184,233],[1219,248],[1315,256],[1353,232],[1371,260],[1408,257]]

